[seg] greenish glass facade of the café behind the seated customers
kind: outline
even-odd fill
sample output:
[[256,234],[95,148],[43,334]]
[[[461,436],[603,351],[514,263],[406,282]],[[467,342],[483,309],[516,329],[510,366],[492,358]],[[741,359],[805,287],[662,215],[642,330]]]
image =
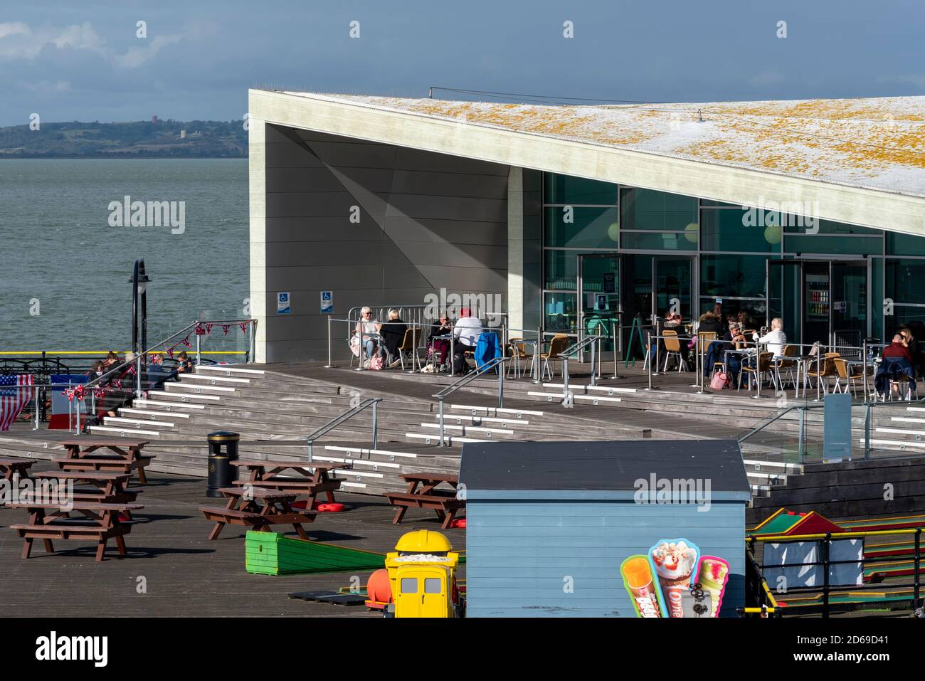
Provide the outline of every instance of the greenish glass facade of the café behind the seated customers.
[[[791,337],[885,338],[902,324],[925,338],[925,238],[667,192],[544,174],[543,311],[547,333],[578,333],[619,304],[625,327],[680,304],[685,321],[722,303]],[[582,286],[583,258],[613,254],[610,296]],[[791,262],[791,266],[773,263]],[[585,272],[590,271],[585,268]],[[689,280],[688,280],[689,278]],[[769,281],[771,291],[766,291]],[[611,285],[610,283],[608,284]]]

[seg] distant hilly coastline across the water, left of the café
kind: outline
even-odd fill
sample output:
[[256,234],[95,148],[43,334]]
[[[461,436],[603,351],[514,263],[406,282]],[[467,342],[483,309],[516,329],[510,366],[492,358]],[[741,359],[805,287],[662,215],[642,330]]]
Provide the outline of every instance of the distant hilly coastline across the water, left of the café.
[[0,128],[5,158],[247,158],[240,120],[45,123]]

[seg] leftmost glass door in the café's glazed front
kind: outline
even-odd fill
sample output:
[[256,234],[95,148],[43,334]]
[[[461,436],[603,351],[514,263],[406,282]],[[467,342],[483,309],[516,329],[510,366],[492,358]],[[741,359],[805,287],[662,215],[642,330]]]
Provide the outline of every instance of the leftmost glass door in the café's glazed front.
[[[620,321],[620,255],[578,256],[579,340],[598,334],[602,352],[613,352]],[[590,351],[588,351],[590,353]]]

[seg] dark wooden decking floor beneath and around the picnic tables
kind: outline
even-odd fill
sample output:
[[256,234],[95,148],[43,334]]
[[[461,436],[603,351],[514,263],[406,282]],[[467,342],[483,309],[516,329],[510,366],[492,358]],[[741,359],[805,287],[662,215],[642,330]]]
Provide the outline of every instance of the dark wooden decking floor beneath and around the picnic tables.
[[[38,464],[42,468],[47,465]],[[10,525],[26,522],[25,512],[0,507],[0,575],[4,616],[369,616],[364,606],[290,600],[290,591],[337,590],[351,573],[263,576],[244,571],[244,530],[228,526],[209,541],[210,524],[196,509],[207,503],[202,478],[152,473],[144,486],[144,509],[134,514],[128,556],[93,562],[94,547],[61,542],[56,553],[41,547],[24,561],[22,539]],[[375,497],[340,493],[350,506],[340,514],[318,514],[309,536],[370,551],[390,551],[405,532],[439,530],[430,511],[408,512],[391,524],[394,509]],[[283,529],[279,527],[278,529]],[[465,530],[443,531],[464,549]],[[295,536],[289,528],[288,536]],[[464,565],[463,576],[464,576]],[[365,588],[369,573],[358,573]],[[139,593],[140,577],[147,593]]]

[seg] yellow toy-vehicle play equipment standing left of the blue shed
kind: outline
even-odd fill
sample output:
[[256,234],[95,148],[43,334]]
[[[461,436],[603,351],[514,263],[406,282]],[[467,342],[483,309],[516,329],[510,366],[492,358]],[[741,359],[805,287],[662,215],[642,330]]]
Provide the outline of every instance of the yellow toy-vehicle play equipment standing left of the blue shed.
[[419,529],[403,535],[386,556],[392,599],[386,616],[462,617],[465,604],[456,583],[459,563],[459,553],[439,532]]

